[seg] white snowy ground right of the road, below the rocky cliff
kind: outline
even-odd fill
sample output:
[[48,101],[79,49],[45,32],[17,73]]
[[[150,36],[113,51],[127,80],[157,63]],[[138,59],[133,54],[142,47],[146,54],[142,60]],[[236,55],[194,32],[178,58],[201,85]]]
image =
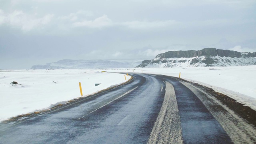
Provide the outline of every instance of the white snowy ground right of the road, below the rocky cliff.
[[[214,69],[214,70],[210,70]],[[256,110],[256,66],[110,69],[179,77],[213,88]]]

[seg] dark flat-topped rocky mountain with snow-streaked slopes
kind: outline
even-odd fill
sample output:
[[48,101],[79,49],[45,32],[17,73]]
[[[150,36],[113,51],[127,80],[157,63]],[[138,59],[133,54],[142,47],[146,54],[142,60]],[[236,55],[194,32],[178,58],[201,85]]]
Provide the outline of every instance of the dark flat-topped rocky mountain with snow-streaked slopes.
[[137,68],[248,66],[256,65],[256,52],[236,52],[204,48],[203,50],[169,51],[152,60],[144,60]]

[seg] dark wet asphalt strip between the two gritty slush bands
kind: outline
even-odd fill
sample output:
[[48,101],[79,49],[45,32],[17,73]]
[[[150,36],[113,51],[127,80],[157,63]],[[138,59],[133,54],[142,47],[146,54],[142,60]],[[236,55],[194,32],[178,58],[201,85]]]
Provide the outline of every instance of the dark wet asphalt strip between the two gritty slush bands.
[[167,77],[167,80],[174,86],[184,143],[233,143],[219,122],[189,88],[174,78]]

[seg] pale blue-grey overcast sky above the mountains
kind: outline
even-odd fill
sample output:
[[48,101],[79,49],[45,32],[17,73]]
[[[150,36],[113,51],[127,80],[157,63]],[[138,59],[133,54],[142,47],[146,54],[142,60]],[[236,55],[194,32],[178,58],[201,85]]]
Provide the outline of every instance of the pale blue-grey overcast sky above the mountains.
[[0,0],[0,69],[62,59],[256,51],[256,0]]

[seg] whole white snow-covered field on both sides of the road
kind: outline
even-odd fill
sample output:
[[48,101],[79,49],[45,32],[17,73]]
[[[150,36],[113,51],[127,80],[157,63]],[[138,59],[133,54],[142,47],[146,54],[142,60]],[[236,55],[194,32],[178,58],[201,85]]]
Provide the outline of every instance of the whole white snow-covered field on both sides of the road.
[[[210,70],[213,69],[213,70]],[[107,72],[164,74],[213,88],[256,110],[256,66],[194,68],[129,68]],[[127,80],[130,76],[126,76]],[[10,84],[16,81],[18,84]],[[124,74],[101,70],[0,70],[0,121],[12,116],[49,109],[125,82]],[[101,83],[95,86],[96,83]]]

